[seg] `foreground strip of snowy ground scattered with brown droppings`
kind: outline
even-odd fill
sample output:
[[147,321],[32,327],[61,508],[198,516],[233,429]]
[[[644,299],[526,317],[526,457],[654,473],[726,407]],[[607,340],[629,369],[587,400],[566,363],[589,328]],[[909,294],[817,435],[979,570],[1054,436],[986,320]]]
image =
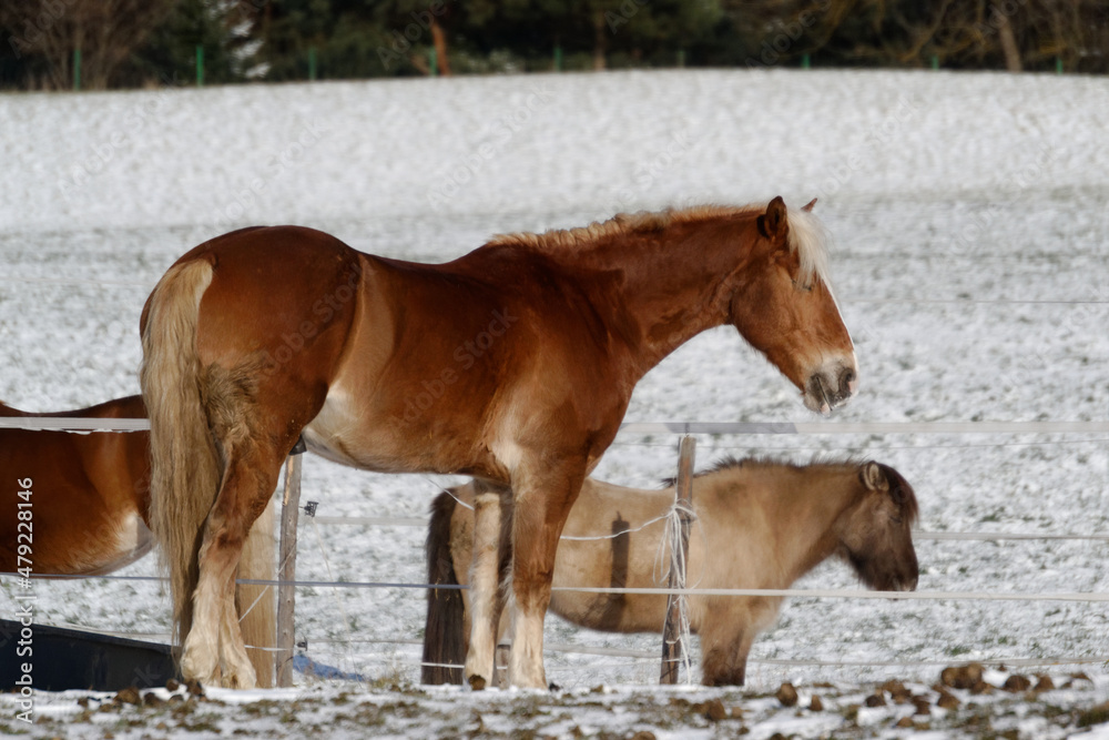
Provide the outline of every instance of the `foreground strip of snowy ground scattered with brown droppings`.
[[[1109,737],[1109,704],[1092,703],[1109,686],[1085,676],[1047,677],[1056,688],[1009,692],[1010,675],[986,671],[978,689],[891,681],[882,686],[795,689],[783,706],[777,692],[684,687],[597,685],[576,691],[462,692],[327,686],[269,691],[212,690],[190,698],[182,688],[119,695],[68,691],[39,698],[35,737],[72,740],[112,737],[215,738],[630,738],[709,740],[744,734],[775,738],[1035,738],[1083,733]],[[1027,678],[1044,686],[1042,677]],[[942,702],[943,707],[938,706]],[[7,709],[10,697],[0,696]],[[4,712],[6,714],[8,712]],[[0,719],[0,731],[18,730]]]

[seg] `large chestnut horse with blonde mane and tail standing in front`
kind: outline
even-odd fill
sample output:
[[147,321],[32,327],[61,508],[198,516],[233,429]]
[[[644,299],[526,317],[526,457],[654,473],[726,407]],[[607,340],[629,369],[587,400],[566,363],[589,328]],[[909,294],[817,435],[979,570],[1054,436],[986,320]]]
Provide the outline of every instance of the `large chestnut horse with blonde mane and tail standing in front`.
[[[184,676],[254,683],[230,629],[232,581],[303,434],[356,467],[511,487],[510,676],[546,687],[542,622],[562,524],[649,369],[732,324],[810,408],[827,413],[854,393],[822,236],[815,216],[776,197],[500,236],[441,265],[294,226],[193,249],[141,320],[162,494],[152,528],[171,567]],[[492,675],[485,624],[475,620],[468,660],[477,686]]]

